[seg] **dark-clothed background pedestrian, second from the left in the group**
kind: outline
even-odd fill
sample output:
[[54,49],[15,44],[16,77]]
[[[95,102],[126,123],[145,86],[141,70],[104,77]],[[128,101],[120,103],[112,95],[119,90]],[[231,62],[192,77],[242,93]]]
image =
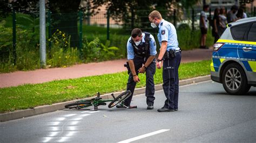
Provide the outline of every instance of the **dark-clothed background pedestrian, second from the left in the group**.
[[220,13],[220,10],[219,8],[216,8],[214,10],[214,16],[213,16],[213,27],[212,27],[212,35],[214,37],[214,43],[217,42],[217,40],[219,39],[220,35],[218,33],[218,30],[219,30],[219,25],[220,25],[220,22],[219,22],[219,13]]

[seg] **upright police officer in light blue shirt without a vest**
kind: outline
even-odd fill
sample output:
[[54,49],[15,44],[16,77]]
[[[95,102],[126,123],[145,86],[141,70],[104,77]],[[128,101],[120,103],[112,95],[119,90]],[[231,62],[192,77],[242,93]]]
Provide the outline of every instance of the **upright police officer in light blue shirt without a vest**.
[[181,49],[179,48],[176,29],[171,23],[165,21],[156,10],[150,13],[149,20],[153,28],[159,27],[157,37],[161,47],[157,60],[157,68],[161,68],[161,61],[163,61],[163,89],[166,101],[163,108],[157,111],[178,111],[178,69],[181,60]]

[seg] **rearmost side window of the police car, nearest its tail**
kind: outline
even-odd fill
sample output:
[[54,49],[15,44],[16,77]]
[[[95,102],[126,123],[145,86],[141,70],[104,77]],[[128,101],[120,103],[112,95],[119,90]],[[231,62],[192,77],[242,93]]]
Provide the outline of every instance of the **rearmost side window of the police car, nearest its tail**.
[[245,33],[251,23],[231,27],[231,34],[235,40],[246,40]]

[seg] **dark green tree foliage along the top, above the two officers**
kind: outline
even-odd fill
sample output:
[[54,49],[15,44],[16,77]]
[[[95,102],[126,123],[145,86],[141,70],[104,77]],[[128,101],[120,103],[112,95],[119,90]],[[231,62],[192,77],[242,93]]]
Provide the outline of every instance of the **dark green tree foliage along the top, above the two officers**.
[[[173,10],[178,9],[178,3],[181,4],[185,9],[191,8],[199,0],[179,0],[179,1],[168,1],[168,0],[97,0],[92,1],[92,13],[97,11],[98,7],[105,4],[107,9],[111,13],[111,17],[115,20],[122,20],[126,28],[137,27],[149,27],[147,16],[152,10],[162,10],[162,15],[173,15]],[[181,10],[182,12],[182,10]],[[137,24],[133,25],[136,20]]]

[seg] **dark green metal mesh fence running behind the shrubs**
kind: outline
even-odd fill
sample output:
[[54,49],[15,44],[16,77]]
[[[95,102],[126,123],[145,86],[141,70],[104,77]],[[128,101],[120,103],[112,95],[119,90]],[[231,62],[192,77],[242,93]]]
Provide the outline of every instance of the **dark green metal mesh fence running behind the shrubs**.
[[[208,15],[211,17],[213,15],[213,9],[208,12]],[[226,8],[230,9],[230,8]],[[174,26],[179,27],[181,24],[187,24],[191,30],[196,30],[199,28],[199,18],[200,18],[201,8],[194,8],[189,10],[159,10],[162,14],[162,17],[173,23]],[[82,47],[83,40],[83,25],[96,25],[106,28],[106,39],[110,39],[110,28],[122,29],[127,31],[126,34],[129,35],[131,30],[135,27],[141,28],[143,31],[149,31],[153,34],[156,34],[157,31],[150,26],[148,15],[151,11],[149,10],[139,10],[130,12],[129,15],[125,16],[125,19],[113,18],[112,14],[108,11],[100,11],[95,16],[87,15],[82,11],[78,13],[51,13],[48,11],[46,13],[46,39],[50,39],[51,35],[57,30],[63,31],[70,36],[71,47]],[[17,15],[19,14],[19,15]],[[38,13],[33,13],[33,15],[25,16],[22,13],[12,12],[12,19],[10,26],[12,26],[12,47],[6,49],[5,51],[0,48],[0,55],[6,55],[9,53],[9,56],[13,57],[13,61],[16,61],[16,45],[17,43],[28,41],[17,41],[19,37],[16,27],[22,27],[23,30],[26,30],[29,34],[32,34],[33,44],[38,44],[39,42],[39,15]],[[256,8],[254,7],[254,12],[249,13],[248,16],[255,16]],[[24,34],[24,33],[23,33]],[[84,35],[86,32],[84,33]],[[51,42],[49,42],[49,48],[51,47]]]

